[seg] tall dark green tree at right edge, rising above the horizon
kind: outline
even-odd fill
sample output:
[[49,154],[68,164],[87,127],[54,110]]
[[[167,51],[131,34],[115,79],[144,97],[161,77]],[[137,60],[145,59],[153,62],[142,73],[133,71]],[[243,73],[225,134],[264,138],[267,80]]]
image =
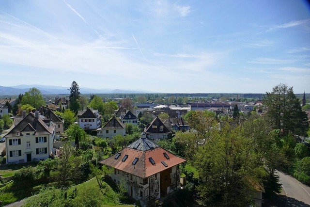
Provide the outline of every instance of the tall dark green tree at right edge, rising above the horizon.
[[293,133],[305,135],[309,127],[308,116],[302,111],[299,99],[294,95],[293,87],[280,83],[263,98],[267,107],[266,115],[274,120],[274,127],[283,135]]

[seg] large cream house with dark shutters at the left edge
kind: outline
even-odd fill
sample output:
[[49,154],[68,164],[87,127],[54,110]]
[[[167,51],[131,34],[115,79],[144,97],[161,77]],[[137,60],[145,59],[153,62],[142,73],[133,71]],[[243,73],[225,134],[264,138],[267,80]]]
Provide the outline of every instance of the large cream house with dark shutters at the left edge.
[[22,163],[32,160],[44,160],[52,153],[55,124],[51,119],[30,112],[7,133],[6,163]]

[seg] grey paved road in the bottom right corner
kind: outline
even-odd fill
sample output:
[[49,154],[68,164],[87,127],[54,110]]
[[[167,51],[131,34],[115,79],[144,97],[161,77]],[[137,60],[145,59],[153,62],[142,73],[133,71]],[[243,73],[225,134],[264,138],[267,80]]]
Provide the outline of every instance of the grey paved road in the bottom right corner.
[[310,187],[294,177],[278,172],[280,183],[287,196],[287,207],[310,207]]

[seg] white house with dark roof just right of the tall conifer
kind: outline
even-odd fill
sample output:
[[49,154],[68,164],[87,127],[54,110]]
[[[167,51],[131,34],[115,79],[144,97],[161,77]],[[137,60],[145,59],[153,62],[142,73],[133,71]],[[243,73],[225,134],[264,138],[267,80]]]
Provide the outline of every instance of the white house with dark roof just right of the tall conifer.
[[83,129],[97,129],[101,127],[101,115],[98,110],[78,111],[78,126]]

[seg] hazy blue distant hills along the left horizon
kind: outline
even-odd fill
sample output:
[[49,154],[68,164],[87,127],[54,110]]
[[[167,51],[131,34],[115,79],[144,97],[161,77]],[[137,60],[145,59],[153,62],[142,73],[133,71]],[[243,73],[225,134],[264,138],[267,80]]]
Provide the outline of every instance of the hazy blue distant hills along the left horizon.
[[[50,94],[70,94],[70,87],[52,86],[52,85],[16,85],[11,87],[0,86],[0,96],[16,96],[24,94],[29,91],[30,88],[37,88],[43,95]],[[92,88],[80,88],[81,94],[140,94],[150,93],[148,91],[133,91],[133,90],[121,90],[121,89],[92,89]]]

